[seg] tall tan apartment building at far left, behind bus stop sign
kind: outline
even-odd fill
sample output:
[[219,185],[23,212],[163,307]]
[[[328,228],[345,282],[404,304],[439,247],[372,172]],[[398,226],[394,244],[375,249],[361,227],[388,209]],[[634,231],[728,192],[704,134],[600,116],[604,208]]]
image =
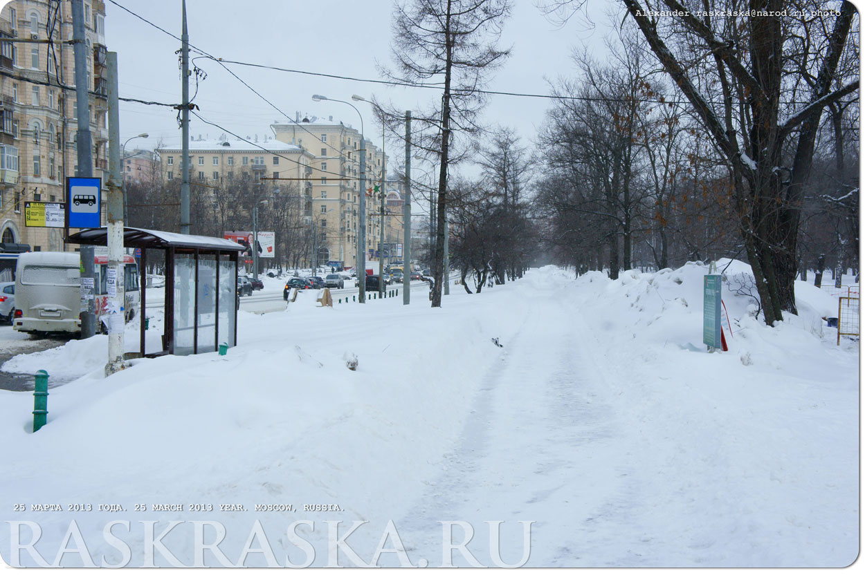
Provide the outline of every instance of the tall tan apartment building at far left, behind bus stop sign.
[[[105,4],[86,0],[84,11],[93,176],[101,177],[106,186]],[[54,26],[48,28],[48,22]],[[69,0],[12,0],[0,10],[2,243],[26,243],[31,250],[64,249],[62,229],[27,226],[24,206],[28,201],[64,201],[65,177],[75,175],[74,54],[72,45],[65,43],[72,35]],[[103,205],[103,222],[105,212]]]

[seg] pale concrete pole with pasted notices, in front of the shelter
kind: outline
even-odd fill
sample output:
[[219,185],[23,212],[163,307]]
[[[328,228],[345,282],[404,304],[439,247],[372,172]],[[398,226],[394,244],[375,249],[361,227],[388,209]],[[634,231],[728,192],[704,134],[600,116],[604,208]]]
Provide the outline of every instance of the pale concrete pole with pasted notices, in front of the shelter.
[[[124,208],[120,161],[120,112],[118,101],[117,53],[108,53],[108,363],[106,376],[125,368],[123,363],[125,331],[125,262],[123,261]],[[114,294],[111,276],[114,275]],[[141,318],[144,321],[144,318]]]

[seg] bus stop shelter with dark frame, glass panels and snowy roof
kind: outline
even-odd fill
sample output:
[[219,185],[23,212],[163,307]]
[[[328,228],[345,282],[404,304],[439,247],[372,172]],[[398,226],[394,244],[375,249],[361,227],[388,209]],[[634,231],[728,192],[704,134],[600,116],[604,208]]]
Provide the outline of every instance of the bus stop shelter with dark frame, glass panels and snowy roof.
[[[105,227],[71,234],[67,241],[107,245]],[[185,356],[237,344],[237,266],[245,248],[221,237],[188,236],[170,231],[124,228],[124,247],[140,248],[141,351],[139,357]],[[165,319],[162,349],[145,349],[147,250],[165,255]],[[138,355],[138,354],[136,354]]]

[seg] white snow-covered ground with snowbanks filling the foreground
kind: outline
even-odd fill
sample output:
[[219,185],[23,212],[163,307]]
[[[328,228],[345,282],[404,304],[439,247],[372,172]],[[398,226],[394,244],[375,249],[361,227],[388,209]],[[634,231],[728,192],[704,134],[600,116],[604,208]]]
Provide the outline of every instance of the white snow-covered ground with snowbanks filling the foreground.
[[[746,271],[733,262],[725,273]],[[709,354],[706,272],[691,263],[610,281],[533,269],[482,294],[452,286],[439,309],[415,294],[411,306],[318,308],[306,292],[285,313],[241,311],[225,357],[137,360],[109,378],[105,337],[15,357],[16,370],[79,378],[51,389],[38,433],[32,396],[0,392],[0,555],[64,566],[848,565],[858,341],[836,346],[821,318],[837,300],[804,282],[799,315],[774,328],[725,287],[730,351]]]

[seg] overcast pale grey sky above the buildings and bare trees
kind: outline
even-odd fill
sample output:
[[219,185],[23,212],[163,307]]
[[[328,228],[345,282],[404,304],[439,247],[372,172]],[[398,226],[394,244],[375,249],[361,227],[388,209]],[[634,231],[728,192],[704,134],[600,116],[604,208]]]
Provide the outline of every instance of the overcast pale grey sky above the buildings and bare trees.
[[[180,36],[180,0],[116,1]],[[533,0],[516,0],[513,14],[505,22],[501,42],[502,46],[512,47],[512,56],[497,71],[489,89],[548,93],[547,79],[573,73],[570,60],[573,47],[586,42],[596,54],[603,54],[607,22],[604,9],[611,4],[618,6],[612,0],[594,0],[589,10],[597,28],[591,29],[586,26],[585,17],[557,27],[541,14]],[[392,6],[391,0],[188,0],[189,42],[227,60],[380,79],[376,61],[391,62]],[[179,60],[175,54],[179,41],[106,1],[106,42],[109,50],[118,53],[121,97],[164,103],[180,101]],[[207,73],[195,98],[202,117],[240,136],[257,134],[259,139],[272,136],[269,125],[274,121],[289,121],[213,60],[199,59],[195,63]],[[357,114],[349,106],[313,102],[314,93],[343,100],[350,100],[352,94],[365,98],[375,95],[389,98],[405,110],[419,109],[438,97],[438,92],[432,90],[229,66],[292,118],[300,111],[319,117],[333,116],[357,126]],[[190,94],[194,91],[192,82]],[[355,104],[363,114],[367,138],[381,142],[370,105]],[[529,143],[550,104],[550,100],[541,98],[493,96],[484,120],[515,128]],[[160,138],[165,145],[181,142],[176,111],[121,103],[122,141],[141,132],[149,133],[150,138],[134,140],[130,148],[152,148]],[[214,138],[220,136],[221,130],[194,118],[189,133]]]

